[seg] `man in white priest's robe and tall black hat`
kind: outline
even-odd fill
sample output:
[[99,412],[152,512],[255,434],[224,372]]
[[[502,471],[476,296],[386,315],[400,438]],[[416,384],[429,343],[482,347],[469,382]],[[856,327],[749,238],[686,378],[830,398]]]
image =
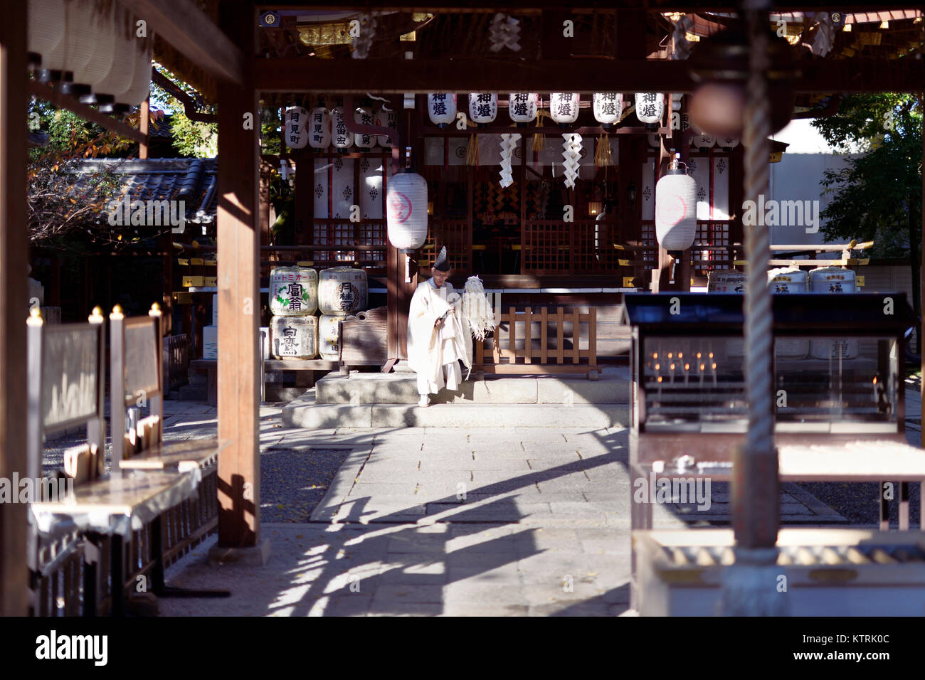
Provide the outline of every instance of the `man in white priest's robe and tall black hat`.
[[418,284],[408,311],[408,365],[417,373],[418,406],[428,406],[427,395],[444,387],[460,388],[460,361],[472,368],[472,335],[462,317],[461,297],[447,282],[445,247],[431,271],[433,278]]

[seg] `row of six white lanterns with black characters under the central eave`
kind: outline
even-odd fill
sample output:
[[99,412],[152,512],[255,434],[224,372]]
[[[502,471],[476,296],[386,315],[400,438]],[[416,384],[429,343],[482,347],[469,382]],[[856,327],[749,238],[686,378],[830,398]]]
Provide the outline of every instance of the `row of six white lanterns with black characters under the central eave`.
[[[594,118],[606,128],[611,128],[623,117],[623,93],[594,93]],[[665,112],[663,93],[636,93],[636,117],[650,128],[658,127]],[[551,93],[549,114],[552,119],[567,127],[578,119],[581,96],[579,93]],[[509,93],[508,115],[511,120],[524,127],[536,120],[539,109],[539,93]],[[456,119],[455,93],[429,93],[427,95],[427,116],[430,122],[443,129]],[[469,118],[480,126],[495,121],[498,116],[497,93],[470,93]]]

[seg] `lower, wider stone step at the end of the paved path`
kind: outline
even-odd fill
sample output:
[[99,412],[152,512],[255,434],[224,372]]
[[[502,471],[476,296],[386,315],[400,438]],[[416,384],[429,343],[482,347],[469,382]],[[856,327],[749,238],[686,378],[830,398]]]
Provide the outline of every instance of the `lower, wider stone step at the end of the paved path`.
[[306,394],[284,406],[284,427],[626,427],[625,403],[498,404],[435,403],[421,408],[398,403],[317,403]]

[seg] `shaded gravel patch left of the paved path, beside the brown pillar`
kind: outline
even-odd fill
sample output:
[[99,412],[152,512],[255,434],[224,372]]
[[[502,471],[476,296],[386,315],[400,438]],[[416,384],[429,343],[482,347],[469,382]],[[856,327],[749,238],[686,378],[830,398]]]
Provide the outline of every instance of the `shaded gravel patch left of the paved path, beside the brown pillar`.
[[350,449],[271,447],[260,455],[260,521],[308,522]]

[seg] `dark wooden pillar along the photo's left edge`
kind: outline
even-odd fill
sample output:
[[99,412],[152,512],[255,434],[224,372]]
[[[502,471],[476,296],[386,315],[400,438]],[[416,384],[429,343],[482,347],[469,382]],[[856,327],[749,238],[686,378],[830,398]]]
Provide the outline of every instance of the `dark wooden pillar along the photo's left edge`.
[[[0,21],[0,476],[26,476],[26,71],[25,4]],[[24,616],[25,503],[0,503],[0,616]]]

